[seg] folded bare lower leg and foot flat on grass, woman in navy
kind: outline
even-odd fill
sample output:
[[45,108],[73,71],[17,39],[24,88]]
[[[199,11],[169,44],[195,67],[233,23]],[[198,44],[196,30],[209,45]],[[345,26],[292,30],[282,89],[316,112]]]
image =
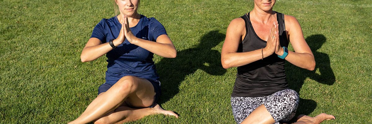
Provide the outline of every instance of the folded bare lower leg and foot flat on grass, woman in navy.
[[128,106],[120,106],[119,108],[115,109],[115,111],[111,111],[108,114],[102,116],[98,120],[94,122],[94,124],[122,124],[129,121],[139,120],[147,115],[152,114],[164,114],[164,115],[172,115],[178,118],[178,115],[175,114],[173,111],[166,111],[161,108],[158,104],[155,105],[154,108],[130,108]]

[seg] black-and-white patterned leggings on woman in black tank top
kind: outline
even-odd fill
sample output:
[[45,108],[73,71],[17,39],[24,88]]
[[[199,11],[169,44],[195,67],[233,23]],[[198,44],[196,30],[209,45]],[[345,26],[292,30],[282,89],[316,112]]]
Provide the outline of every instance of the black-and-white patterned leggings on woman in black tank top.
[[295,90],[285,89],[263,97],[231,97],[232,114],[237,124],[260,105],[264,105],[275,120],[275,124],[291,120],[298,107],[299,95]]

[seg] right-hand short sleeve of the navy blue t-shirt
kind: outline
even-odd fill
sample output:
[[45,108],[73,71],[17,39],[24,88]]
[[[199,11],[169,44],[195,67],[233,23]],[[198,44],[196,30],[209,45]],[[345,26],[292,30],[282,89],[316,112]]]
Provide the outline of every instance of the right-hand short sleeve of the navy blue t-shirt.
[[156,41],[158,36],[163,34],[167,35],[167,31],[158,20],[156,20],[155,18],[151,18],[149,23],[149,34],[150,41]]

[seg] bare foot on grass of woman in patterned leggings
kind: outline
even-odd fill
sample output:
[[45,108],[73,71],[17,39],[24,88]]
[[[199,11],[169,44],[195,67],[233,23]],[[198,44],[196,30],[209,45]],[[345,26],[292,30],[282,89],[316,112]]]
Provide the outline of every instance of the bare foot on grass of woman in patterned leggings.
[[301,121],[307,124],[320,124],[324,120],[334,120],[336,119],[333,115],[328,115],[325,113],[319,114],[315,117],[310,117],[307,115],[298,115],[297,122]]

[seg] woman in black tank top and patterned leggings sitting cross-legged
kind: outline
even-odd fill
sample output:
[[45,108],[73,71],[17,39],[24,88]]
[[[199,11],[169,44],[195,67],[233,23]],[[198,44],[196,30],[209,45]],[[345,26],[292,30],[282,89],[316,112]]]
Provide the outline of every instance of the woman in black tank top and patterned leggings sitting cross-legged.
[[[254,9],[230,22],[221,52],[222,66],[237,67],[231,94],[239,123],[283,123],[296,112],[299,95],[288,89],[285,60],[314,70],[315,60],[296,18],[272,10],[276,0],[254,0]],[[288,50],[291,42],[295,51]],[[333,115],[300,115],[296,123],[321,123]]]

